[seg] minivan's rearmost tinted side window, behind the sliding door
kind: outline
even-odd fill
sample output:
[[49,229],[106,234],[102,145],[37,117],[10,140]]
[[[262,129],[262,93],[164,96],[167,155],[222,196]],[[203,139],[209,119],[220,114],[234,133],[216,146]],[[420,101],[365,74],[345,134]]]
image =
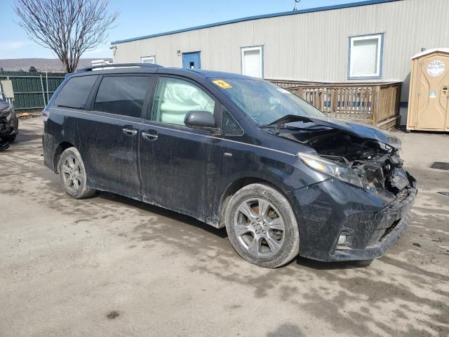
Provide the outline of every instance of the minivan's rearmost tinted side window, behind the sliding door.
[[55,98],[55,105],[84,109],[97,78],[98,75],[72,77],[58,93],[58,97]]

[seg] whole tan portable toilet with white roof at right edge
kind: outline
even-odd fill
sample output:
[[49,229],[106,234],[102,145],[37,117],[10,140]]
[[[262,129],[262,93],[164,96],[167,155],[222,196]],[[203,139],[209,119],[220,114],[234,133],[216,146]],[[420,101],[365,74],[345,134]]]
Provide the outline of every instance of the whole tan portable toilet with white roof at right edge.
[[407,130],[449,131],[449,48],[412,58]]

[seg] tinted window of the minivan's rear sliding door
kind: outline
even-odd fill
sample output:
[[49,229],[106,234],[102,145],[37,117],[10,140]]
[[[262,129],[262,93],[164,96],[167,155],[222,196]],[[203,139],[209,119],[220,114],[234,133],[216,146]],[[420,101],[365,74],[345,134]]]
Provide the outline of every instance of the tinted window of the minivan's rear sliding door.
[[148,76],[104,77],[93,110],[140,117],[150,81]]

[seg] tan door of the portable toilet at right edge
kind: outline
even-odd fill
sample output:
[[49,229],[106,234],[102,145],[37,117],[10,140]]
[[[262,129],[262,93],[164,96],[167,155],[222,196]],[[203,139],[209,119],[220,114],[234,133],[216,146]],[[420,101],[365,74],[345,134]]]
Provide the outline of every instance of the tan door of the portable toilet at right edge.
[[449,55],[429,55],[420,62],[416,127],[443,131],[449,125]]

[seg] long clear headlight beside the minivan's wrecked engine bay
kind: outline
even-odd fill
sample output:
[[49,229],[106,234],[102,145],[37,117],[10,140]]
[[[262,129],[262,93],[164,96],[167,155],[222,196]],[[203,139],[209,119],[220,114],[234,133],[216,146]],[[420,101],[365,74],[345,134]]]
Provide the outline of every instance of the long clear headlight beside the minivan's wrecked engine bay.
[[363,187],[363,184],[358,177],[357,173],[353,169],[349,169],[347,166],[337,164],[333,161],[328,161],[319,156],[314,156],[313,154],[299,152],[298,157],[304,161],[304,164],[315,169],[333,176],[337,179],[344,181],[351,185],[356,185],[357,187]]

